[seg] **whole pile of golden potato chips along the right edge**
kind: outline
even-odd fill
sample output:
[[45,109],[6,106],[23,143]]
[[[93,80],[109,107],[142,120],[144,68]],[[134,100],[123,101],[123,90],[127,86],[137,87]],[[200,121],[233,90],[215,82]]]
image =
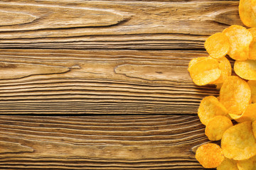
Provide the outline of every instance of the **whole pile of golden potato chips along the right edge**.
[[[240,0],[239,13],[245,26],[256,27],[256,0]],[[205,47],[209,57],[191,60],[188,72],[198,86],[220,88],[218,98],[203,98],[198,117],[208,139],[221,140],[221,147],[201,145],[196,159],[205,168],[256,170],[256,28],[230,26]],[[235,73],[226,55],[235,60]]]

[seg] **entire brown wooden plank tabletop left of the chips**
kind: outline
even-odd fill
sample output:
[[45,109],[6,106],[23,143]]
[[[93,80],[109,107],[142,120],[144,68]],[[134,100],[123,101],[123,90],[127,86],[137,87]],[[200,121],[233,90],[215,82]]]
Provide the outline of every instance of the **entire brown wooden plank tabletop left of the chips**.
[[203,169],[188,62],[239,1],[0,1],[0,169]]

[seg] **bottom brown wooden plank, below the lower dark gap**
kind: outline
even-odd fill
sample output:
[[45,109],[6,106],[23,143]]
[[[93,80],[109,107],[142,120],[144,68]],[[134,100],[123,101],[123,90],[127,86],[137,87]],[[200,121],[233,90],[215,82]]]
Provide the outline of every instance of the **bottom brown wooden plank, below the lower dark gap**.
[[196,115],[0,116],[1,169],[203,169]]

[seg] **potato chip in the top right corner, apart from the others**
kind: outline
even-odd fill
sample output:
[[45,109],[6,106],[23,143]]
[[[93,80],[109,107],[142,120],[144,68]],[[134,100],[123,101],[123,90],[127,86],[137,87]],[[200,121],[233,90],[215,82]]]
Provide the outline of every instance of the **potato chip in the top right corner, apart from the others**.
[[247,27],[256,27],[256,15],[252,9],[251,0],[240,0],[239,3],[239,16],[242,23]]

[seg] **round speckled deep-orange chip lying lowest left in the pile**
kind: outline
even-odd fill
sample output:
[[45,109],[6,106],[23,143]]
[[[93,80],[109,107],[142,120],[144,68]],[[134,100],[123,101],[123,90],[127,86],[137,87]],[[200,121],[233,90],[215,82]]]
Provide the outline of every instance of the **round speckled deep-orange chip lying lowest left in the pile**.
[[223,162],[222,149],[213,143],[201,145],[196,150],[196,159],[204,168],[216,168]]

